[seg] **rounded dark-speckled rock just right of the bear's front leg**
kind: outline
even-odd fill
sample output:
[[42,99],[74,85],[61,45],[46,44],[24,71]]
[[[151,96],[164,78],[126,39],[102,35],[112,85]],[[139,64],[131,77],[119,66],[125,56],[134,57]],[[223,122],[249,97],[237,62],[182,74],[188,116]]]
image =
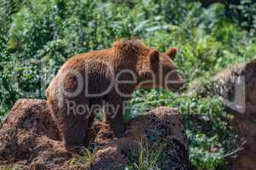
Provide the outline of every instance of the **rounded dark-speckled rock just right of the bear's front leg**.
[[142,140],[149,144],[149,148],[154,144],[164,145],[160,169],[188,168],[188,141],[182,118],[176,110],[169,107],[154,109],[132,119],[126,128],[127,137],[114,139],[96,152],[92,169],[118,169],[119,165],[129,163],[131,152],[140,149]]

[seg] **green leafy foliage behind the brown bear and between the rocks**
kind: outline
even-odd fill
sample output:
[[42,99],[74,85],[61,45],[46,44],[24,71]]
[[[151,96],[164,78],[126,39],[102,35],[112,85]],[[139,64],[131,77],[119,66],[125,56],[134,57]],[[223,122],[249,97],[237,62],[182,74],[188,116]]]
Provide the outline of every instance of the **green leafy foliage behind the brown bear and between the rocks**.
[[[108,48],[120,38],[142,39],[161,52],[176,46],[187,85],[208,79],[228,65],[253,59],[255,16],[249,0],[230,8],[201,8],[198,1],[186,0],[0,0],[0,116],[16,99],[44,99],[44,89],[74,54]],[[133,95],[126,120],[159,105],[177,107],[193,166],[225,167],[224,154],[234,137],[218,99],[156,90]]]

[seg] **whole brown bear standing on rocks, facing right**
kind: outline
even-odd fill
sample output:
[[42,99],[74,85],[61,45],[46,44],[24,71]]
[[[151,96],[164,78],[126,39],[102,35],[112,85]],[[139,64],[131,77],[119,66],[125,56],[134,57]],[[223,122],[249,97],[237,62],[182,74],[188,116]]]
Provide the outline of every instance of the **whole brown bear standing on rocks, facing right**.
[[162,54],[139,40],[125,40],[68,59],[45,91],[67,149],[88,144],[88,129],[100,109],[114,135],[123,137],[124,104],[135,89],[181,87],[176,53],[177,48]]

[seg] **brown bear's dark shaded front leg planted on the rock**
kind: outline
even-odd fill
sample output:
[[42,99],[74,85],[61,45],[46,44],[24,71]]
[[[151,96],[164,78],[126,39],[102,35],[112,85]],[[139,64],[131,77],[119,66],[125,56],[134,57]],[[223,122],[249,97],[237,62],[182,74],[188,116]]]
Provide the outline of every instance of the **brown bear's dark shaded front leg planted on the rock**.
[[124,123],[124,106],[120,104],[108,103],[104,105],[103,122],[108,123],[115,137],[122,138],[125,136]]

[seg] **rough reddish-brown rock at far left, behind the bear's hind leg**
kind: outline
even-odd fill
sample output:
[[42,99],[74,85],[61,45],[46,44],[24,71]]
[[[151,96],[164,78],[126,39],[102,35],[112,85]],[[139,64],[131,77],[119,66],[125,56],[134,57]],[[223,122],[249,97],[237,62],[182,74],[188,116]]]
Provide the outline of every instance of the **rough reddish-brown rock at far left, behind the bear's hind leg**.
[[0,157],[23,161],[29,169],[56,168],[71,157],[60,139],[45,100],[19,99],[0,130]]

